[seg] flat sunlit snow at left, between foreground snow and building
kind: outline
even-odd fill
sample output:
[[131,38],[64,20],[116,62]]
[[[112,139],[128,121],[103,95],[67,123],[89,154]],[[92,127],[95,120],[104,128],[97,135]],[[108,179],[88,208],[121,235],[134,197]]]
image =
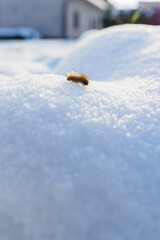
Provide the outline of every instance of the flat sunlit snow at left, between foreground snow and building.
[[73,40],[25,40],[0,42],[0,76],[52,73]]

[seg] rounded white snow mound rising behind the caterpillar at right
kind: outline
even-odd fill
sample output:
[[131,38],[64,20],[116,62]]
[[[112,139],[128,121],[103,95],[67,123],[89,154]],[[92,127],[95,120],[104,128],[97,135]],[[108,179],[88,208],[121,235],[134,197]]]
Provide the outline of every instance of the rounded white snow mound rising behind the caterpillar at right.
[[123,25],[91,34],[54,69],[74,71],[91,79],[114,81],[124,77],[160,76],[160,27]]

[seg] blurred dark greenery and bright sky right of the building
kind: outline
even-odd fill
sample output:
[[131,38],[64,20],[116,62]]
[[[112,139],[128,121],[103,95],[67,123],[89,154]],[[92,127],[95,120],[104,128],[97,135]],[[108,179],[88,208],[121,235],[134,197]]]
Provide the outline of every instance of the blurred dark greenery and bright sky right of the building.
[[160,25],[160,1],[112,0],[103,15],[103,26],[118,24]]

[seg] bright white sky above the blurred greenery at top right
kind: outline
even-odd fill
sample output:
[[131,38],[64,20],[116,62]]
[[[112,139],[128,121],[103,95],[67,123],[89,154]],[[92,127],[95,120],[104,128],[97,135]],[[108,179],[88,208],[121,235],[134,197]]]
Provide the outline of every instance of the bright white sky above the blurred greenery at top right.
[[[147,1],[147,0],[145,0]],[[160,2],[160,0],[148,0],[150,2]],[[138,0],[110,0],[117,8],[134,8],[138,6]]]

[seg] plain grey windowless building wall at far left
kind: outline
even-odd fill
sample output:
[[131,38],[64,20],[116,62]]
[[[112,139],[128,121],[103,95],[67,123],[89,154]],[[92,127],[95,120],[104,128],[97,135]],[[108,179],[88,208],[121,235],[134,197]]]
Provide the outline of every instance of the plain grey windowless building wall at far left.
[[46,37],[62,37],[64,0],[0,0],[0,27],[33,27]]

